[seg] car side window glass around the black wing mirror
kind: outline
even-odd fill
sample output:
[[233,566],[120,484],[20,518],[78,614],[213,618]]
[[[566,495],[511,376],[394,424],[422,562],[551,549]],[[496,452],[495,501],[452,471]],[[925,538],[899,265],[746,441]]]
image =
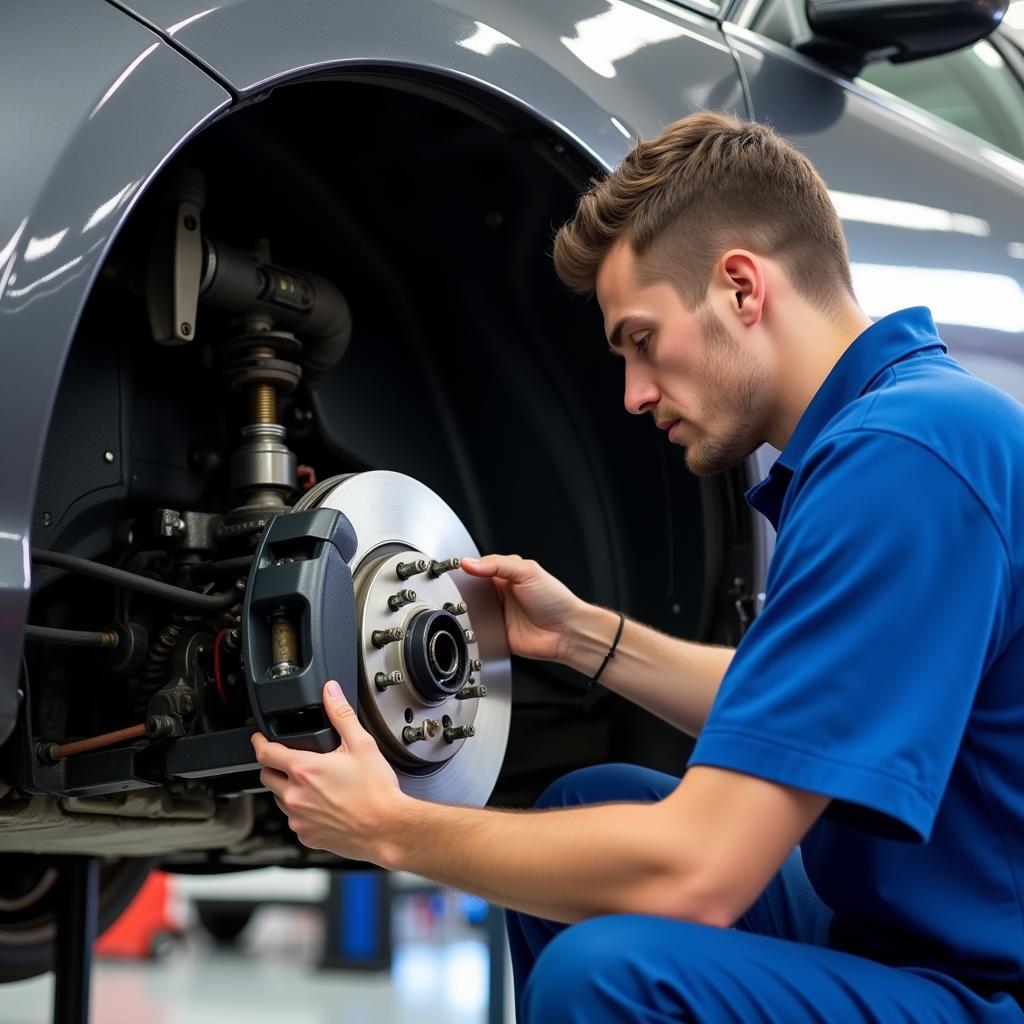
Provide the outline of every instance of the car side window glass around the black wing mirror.
[[[786,45],[810,32],[803,0],[768,0],[752,28]],[[1024,160],[1024,85],[987,40],[924,60],[871,63],[859,81]]]

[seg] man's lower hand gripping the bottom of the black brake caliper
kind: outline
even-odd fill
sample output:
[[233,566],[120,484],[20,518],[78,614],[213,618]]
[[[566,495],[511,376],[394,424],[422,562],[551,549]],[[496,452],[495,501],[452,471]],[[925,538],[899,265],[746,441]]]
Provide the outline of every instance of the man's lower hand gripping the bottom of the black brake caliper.
[[399,820],[398,778],[334,680],[324,686],[324,708],[341,745],[329,754],[293,751],[257,732],[260,781],[303,846],[379,863],[387,826]]

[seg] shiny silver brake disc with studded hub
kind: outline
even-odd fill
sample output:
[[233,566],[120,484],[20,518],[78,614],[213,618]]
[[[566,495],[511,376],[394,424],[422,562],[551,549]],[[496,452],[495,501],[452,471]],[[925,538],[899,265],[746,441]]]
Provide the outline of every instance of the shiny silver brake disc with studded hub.
[[479,554],[429,487],[386,470],[336,476],[293,512],[336,509],[357,539],[349,561],[359,632],[359,719],[403,792],[482,806],[505,757],[511,665],[494,586],[453,567]]

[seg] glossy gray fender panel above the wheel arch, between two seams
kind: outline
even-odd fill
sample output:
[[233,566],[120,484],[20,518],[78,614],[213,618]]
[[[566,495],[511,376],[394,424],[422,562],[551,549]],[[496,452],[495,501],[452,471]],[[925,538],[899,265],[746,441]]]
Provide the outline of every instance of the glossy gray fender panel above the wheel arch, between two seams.
[[360,67],[432,71],[510,98],[604,167],[625,156],[637,132],[654,134],[688,111],[745,113],[717,23],[670,4],[127,0],[125,6],[241,96]]

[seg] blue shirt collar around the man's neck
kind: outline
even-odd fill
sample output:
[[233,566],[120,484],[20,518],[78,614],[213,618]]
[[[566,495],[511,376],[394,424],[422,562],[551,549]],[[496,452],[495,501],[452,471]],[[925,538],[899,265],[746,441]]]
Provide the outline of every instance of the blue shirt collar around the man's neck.
[[790,480],[828,421],[870,390],[871,384],[894,362],[913,352],[934,347],[946,350],[932,314],[925,306],[890,313],[861,332],[840,356],[804,410],[793,436],[768,476],[746,492],[748,503],[777,529]]

